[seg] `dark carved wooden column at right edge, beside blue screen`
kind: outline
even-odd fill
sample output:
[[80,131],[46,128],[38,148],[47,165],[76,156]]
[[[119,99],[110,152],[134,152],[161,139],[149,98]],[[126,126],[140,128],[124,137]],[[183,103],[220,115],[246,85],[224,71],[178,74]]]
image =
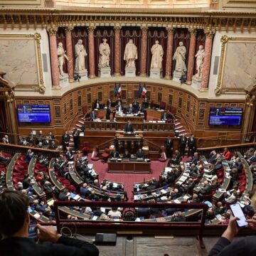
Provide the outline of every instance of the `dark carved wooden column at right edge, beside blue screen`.
[[255,95],[246,95],[246,109],[243,114],[245,118],[243,127],[242,127],[242,142],[247,142],[247,139],[250,139],[250,136],[247,137],[247,132],[249,132],[250,122],[252,122],[253,117],[251,117],[252,109],[255,103]]

